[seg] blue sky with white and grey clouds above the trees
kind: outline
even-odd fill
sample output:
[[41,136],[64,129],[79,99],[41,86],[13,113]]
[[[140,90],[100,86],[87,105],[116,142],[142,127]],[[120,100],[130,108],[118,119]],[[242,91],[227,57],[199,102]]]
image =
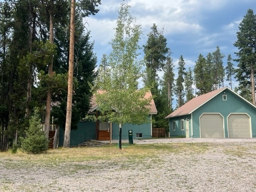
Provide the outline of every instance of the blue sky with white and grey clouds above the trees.
[[[114,38],[118,7],[123,0],[102,0],[100,11],[85,18],[86,28],[94,41],[94,53],[98,64],[103,54],[111,52],[109,42]],[[177,76],[178,59],[182,55],[186,70],[193,68],[199,54],[207,56],[216,47],[224,54],[226,66],[228,54],[236,58],[234,47],[239,23],[250,8],[256,14],[255,0],[128,0],[130,12],[142,26],[140,45],[147,42],[147,34],[155,23],[167,39]],[[142,51],[143,54],[143,51]],[[236,66],[236,62],[233,62]],[[160,78],[162,72],[159,73]],[[224,86],[228,86],[225,82]]]

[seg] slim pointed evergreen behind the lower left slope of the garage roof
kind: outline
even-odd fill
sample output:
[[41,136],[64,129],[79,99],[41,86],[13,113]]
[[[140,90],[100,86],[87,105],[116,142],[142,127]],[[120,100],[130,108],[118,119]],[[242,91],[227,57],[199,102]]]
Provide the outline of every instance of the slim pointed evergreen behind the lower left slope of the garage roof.
[[183,56],[181,55],[178,61],[178,77],[176,79],[176,88],[175,88],[175,93],[177,96],[177,108],[181,107],[184,105],[184,76],[185,76],[185,60]]

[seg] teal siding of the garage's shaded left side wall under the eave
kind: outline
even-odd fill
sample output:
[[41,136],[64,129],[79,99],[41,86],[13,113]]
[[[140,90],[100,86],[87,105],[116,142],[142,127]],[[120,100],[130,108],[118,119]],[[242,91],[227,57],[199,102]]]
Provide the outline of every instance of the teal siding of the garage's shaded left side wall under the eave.
[[[191,116],[179,116],[175,118],[170,118],[169,120],[169,128],[170,128],[170,136],[186,136],[186,120],[191,121]],[[184,120],[184,130],[181,130],[181,120]],[[175,122],[175,131],[173,130],[173,122]]]

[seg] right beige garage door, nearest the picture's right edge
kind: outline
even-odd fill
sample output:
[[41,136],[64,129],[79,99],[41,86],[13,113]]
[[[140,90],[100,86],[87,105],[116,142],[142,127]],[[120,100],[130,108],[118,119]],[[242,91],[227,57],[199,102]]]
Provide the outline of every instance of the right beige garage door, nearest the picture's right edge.
[[229,138],[250,138],[250,117],[247,114],[231,114],[228,117]]

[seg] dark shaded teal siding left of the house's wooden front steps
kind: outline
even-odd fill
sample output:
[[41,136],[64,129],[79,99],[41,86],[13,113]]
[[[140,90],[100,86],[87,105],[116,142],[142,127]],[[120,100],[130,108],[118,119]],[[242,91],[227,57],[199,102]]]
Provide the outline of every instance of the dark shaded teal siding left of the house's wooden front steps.
[[[77,146],[84,141],[96,138],[96,122],[79,122],[76,130],[70,132],[70,146]],[[60,129],[59,145],[63,146],[64,129]]]

